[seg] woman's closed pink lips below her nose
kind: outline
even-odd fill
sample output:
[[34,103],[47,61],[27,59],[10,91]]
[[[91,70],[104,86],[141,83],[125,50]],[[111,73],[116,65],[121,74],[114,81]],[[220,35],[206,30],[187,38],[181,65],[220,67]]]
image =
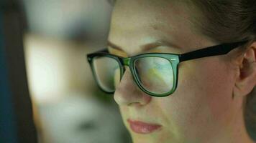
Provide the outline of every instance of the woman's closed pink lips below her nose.
[[138,134],[150,134],[162,127],[160,124],[150,124],[150,123],[135,121],[132,119],[127,119],[127,122],[129,123],[129,127],[132,129],[132,131]]

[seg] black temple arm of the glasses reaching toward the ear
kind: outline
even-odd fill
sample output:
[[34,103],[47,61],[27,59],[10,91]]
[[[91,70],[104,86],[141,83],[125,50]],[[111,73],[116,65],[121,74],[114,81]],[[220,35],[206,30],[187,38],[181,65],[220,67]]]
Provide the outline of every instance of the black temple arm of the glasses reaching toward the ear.
[[235,43],[228,43],[228,44],[221,44],[216,46],[210,46],[206,49],[198,49],[196,51],[191,51],[185,54],[180,54],[180,62],[181,61],[188,61],[191,59],[198,59],[203,58],[206,56],[216,56],[221,54],[227,54],[232,49],[237,48],[238,46],[241,46],[242,44],[247,43],[247,41],[239,41]]

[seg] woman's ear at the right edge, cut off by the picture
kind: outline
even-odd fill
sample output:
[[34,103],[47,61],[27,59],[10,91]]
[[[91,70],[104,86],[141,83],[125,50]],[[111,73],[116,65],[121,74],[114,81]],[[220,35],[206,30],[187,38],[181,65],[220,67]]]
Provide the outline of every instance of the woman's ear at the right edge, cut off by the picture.
[[248,46],[240,61],[234,97],[246,96],[256,85],[256,41]]

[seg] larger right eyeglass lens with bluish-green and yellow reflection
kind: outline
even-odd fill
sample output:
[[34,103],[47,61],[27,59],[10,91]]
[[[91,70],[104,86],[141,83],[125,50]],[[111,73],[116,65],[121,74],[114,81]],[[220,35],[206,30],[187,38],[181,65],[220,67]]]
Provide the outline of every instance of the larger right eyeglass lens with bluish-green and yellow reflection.
[[134,63],[140,84],[148,92],[165,94],[173,89],[173,67],[168,59],[145,57]]

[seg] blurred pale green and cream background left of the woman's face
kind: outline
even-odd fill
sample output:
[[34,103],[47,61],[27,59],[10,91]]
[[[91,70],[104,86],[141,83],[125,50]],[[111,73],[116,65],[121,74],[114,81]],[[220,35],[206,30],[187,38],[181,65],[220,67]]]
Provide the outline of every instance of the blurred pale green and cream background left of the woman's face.
[[19,0],[11,5],[19,7],[15,14],[22,19],[37,142],[132,142],[113,97],[96,87],[86,59],[106,47],[112,1]]

